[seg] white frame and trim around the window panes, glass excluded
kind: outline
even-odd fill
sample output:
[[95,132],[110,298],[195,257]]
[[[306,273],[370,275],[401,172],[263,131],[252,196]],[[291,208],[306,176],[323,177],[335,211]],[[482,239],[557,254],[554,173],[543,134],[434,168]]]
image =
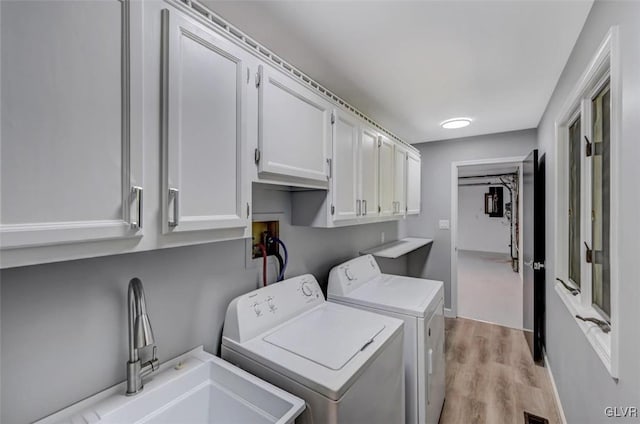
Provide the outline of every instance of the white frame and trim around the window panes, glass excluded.
[[[604,366],[613,378],[618,377],[619,366],[619,283],[620,276],[618,273],[619,263],[619,199],[620,199],[620,131],[622,128],[622,75],[621,75],[621,59],[618,27],[613,26],[607,32],[605,39],[600,44],[596,54],[589,62],[585,71],[578,79],[573,90],[567,96],[567,101],[563,105],[558,118],[555,121],[556,129],[556,180],[554,185],[556,188],[556,205],[555,205],[555,238],[554,238],[554,257],[556,265],[556,275],[565,281],[568,279],[568,252],[567,252],[567,234],[568,227],[568,192],[566,182],[568,181],[568,167],[564,166],[568,160],[568,126],[576,111],[582,111],[582,134],[590,134],[590,99],[597,87],[602,86],[602,82],[606,75],[609,75],[610,93],[611,93],[611,169],[610,185],[610,237],[611,237],[611,332],[604,334],[597,331],[591,331],[593,327],[574,318],[578,327],[583,331],[589,343],[593,346],[602,360]],[[586,100],[585,100],[586,99]],[[582,147],[584,149],[584,146]],[[582,152],[584,153],[584,152]],[[583,155],[584,156],[584,155]],[[590,205],[591,193],[585,191],[585,181],[590,178],[590,165],[583,166],[581,170],[581,207],[582,214],[586,213],[585,204]],[[589,169],[585,169],[589,168]],[[589,208],[590,209],[590,208]],[[581,218],[581,239],[591,239],[591,226]],[[586,228],[589,227],[589,228]],[[589,277],[591,267],[585,265],[584,251],[581,253],[581,272],[584,277]],[[587,269],[588,268],[588,269]],[[569,313],[575,316],[576,313],[586,313],[589,315],[600,316],[600,313],[591,305],[591,278],[581,278],[582,293],[579,296],[571,296],[561,286],[556,285],[556,293],[567,307]]]

